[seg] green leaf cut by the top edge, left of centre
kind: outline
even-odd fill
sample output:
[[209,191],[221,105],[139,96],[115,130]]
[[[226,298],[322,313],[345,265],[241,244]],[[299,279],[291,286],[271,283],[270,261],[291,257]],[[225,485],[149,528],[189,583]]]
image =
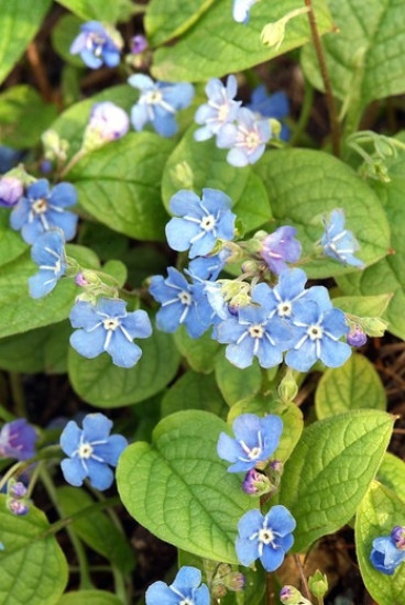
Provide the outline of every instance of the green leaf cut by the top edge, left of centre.
[[156,46],[182,35],[212,3],[214,0],[151,0],[144,23],[149,43]]

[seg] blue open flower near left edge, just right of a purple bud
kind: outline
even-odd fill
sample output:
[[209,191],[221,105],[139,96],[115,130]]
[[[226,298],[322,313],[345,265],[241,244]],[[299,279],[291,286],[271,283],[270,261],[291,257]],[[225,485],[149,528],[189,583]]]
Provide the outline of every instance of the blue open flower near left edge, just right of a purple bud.
[[51,190],[45,178],[36,180],[20,199],[10,216],[11,227],[18,231],[25,242],[33,244],[41,233],[59,228],[65,240],[72,240],[76,234],[78,217],[66,212],[65,208],[77,201],[76,189],[70,183],[59,183]]

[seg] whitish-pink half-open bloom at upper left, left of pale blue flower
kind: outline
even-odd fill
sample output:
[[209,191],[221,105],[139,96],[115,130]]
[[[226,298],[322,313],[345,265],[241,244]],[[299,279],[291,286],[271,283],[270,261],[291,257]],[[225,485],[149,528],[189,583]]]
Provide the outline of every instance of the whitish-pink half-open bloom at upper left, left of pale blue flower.
[[95,103],[85,132],[86,147],[96,148],[109,141],[121,139],[130,128],[128,113],[116,103]]

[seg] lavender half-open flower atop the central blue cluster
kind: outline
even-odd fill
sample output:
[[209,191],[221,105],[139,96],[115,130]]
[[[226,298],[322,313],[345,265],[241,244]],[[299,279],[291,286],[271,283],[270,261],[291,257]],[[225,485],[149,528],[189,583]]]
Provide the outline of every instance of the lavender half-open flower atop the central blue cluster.
[[288,268],[286,263],[296,263],[300,256],[302,246],[295,239],[296,232],[295,227],[278,227],[262,242],[260,255],[276,275]]

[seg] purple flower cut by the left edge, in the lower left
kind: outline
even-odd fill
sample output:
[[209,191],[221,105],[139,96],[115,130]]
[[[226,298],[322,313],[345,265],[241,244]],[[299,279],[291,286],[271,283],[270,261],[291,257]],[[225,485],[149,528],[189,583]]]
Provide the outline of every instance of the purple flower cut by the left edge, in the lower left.
[[0,457],[29,460],[35,455],[37,435],[25,418],[6,422],[0,431]]

